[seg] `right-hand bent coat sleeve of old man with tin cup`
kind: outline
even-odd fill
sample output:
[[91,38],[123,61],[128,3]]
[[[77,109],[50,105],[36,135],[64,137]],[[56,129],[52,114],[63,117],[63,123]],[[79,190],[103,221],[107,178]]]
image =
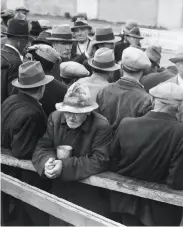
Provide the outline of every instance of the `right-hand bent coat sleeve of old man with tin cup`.
[[108,168],[111,138],[112,129],[110,125],[107,124],[98,128],[92,143],[91,154],[62,160],[61,180],[81,180],[105,171]]

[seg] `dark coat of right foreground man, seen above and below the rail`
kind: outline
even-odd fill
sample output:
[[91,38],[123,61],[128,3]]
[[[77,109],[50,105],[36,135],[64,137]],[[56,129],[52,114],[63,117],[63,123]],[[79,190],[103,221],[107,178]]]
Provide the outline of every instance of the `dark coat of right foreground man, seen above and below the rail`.
[[[152,111],[141,118],[125,118],[117,129],[112,157],[111,170],[121,175],[182,190],[183,124]],[[152,226],[179,225],[182,217],[182,207],[115,192],[111,209]]]

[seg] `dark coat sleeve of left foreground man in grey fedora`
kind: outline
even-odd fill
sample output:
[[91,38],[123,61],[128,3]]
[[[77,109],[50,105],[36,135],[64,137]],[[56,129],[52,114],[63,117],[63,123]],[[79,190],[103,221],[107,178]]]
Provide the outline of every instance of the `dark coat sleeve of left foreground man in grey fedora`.
[[39,138],[45,130],[41,115],[22,118],[17,122],[11,143],[12,154],[16,158],[31,159]]

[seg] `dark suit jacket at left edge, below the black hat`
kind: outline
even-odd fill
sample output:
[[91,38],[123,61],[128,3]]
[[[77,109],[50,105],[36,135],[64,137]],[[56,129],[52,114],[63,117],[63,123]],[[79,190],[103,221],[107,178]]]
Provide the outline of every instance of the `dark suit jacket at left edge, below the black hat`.
[[[3,74],[1,76],[1,93],[3,94],[3,99],[11,95],[13,86],[11,82],[18,78],[18,68],[22,64],[19,54],[12,48],[4,46],[1,50],[1,70]],[[9,67],[5,67],[8,64]],[[4,100],[2,100],[4,101]]]

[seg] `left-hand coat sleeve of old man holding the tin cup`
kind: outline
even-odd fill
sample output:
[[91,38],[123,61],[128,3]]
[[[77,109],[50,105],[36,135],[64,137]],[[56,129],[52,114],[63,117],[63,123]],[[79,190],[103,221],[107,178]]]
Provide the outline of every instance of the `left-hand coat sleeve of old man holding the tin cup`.
[[44,174],[45,163],[49,158],[56,159],[56,150],[54,148],[54,125],[52,123],[52,114],[49,116],[47,130],[43,137],[39,140],[34,154],[32,156],[32,164],[40,176]]

